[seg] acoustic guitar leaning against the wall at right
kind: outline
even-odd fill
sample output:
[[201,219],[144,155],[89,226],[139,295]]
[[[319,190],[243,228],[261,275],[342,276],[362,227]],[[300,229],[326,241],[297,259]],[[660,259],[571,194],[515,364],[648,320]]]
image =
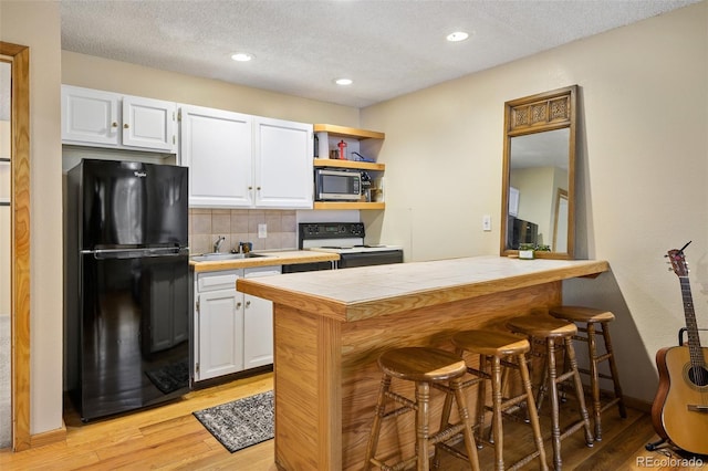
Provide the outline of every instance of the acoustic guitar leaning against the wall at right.
[[662,348],[656,354],[659,386],[652,422],[659,437],[678,448],[708,454],[708,348],[700,346],[698,337],[684,249],[670,250],[667,257],[681,285],[688,346]]

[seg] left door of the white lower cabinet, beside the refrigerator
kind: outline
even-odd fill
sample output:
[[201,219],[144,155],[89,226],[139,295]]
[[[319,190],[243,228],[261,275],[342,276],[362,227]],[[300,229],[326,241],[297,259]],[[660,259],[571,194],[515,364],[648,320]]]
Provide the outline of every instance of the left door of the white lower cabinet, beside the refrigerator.
[[243,369],[242,299],[236,290],[199,294],[198,380]]

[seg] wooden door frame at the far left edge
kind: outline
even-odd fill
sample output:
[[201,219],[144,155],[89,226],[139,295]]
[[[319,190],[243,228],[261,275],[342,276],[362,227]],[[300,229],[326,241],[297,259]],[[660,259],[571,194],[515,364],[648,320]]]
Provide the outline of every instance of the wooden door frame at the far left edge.
[[0,41],[12,59],[10,117],[10,253],[12,449],[27,450],[30,435],[30,48]]

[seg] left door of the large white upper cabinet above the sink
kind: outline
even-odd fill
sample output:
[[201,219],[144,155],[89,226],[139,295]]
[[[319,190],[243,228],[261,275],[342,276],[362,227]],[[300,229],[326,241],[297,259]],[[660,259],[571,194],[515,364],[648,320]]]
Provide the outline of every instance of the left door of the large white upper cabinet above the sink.
[[181,107],[180,154],[189,167],[189,206],[252,205],[251,116]]

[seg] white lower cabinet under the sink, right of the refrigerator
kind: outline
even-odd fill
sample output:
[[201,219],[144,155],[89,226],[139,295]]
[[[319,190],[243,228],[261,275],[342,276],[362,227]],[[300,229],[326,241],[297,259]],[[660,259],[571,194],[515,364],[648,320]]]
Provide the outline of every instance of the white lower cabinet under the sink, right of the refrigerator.
[[273,304],[236,291],[236,281],[280,272],[263,266],[197,274],[195,381],[273,363]]

